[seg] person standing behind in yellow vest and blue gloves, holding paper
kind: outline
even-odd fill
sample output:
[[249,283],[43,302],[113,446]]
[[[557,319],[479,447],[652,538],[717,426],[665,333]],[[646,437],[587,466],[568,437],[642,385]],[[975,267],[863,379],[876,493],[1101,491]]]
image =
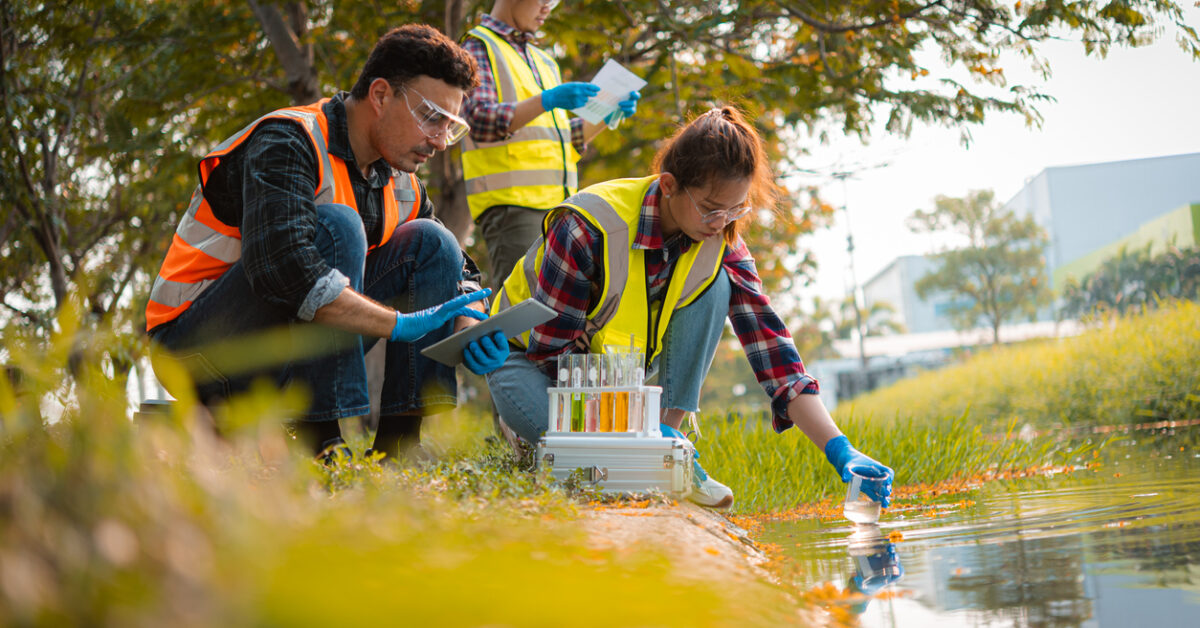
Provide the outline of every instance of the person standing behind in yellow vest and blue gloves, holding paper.
[[[563,83],[558,62],[534,43],[557,4],[497,0],[462,42],[480,68],[463,113],[470,133],[462,169],[496,287],[541,235],[546,211],[577,191],[576,163],[605,127],[568,118],[568,109],[582,107],[600,88]],[[616,114],[634,115],[640,97],[630,92]]]

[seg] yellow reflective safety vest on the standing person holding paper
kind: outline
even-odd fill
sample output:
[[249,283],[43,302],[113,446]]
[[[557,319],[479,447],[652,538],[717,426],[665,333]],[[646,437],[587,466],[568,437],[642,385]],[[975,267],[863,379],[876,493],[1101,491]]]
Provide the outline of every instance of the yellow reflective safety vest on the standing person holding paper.
[[[517,103],[562,83],[558,64],[536,46],[526,44],[530,67],[496,31],[475,26],[467,35],[487,48],[497,102]],[[496,205],[553,208],[578,189],[577,161],[571,122],[563,109],[542,113],[500,142],[475,142],[468,134],[462,143],[462,171],[472,217],[479,220]]]

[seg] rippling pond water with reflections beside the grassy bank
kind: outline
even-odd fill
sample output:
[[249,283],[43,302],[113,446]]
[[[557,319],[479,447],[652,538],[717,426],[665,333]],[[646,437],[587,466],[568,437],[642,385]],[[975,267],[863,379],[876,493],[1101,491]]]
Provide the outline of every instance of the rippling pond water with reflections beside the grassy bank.
[[846,604],[865,627],[1200,627],[1200,451],[1181,442],[1127,441],[1094,468],[994,482],[877,527],[768,522],[762,539],[802,588],[871,594]]

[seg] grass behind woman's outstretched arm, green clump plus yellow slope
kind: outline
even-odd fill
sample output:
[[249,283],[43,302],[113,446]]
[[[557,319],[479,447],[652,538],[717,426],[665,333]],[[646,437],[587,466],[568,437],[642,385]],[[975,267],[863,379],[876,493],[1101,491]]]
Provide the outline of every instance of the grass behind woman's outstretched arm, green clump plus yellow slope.
[[[1200,305],[1106,321],[1078,337],[982,352],[834,413],[860,451],[896,472],[896,485],[935,484],[995,468],[1069,463],[1104,436],[1056,430],[1200,418]],[[841,494],[824,456],[799,430],[761,418],[702,417],[702,463],[738,496],[740,512],[782,510]],[[1020,432],[1039,437],[1018,438]]]

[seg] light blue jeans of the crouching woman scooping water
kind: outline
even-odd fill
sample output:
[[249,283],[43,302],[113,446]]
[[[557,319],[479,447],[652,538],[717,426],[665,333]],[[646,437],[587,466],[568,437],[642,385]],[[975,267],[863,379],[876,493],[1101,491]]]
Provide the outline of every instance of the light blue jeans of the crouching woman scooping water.
[[[704,294],[671,316],[662,352],[650,365],[652,372],[655,369],[659,372],[664,409],[700,409],[700,389],[721,340],[731,292],[730,279],[722,269]],[[538,442],[550,423],[546,394],[553,385],[550,377],[524,353],[514,352],[503,366],[487,375],[487,385],[504,423],[527,442]]]

